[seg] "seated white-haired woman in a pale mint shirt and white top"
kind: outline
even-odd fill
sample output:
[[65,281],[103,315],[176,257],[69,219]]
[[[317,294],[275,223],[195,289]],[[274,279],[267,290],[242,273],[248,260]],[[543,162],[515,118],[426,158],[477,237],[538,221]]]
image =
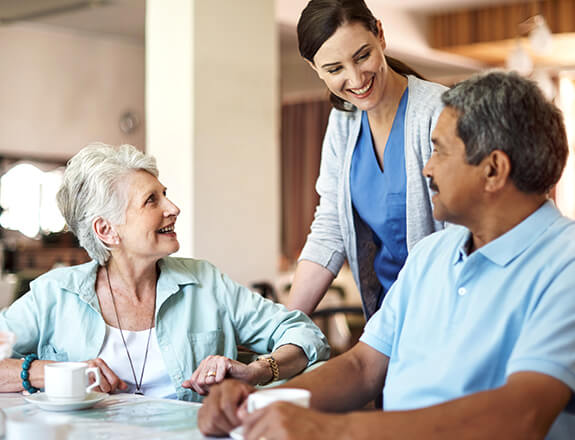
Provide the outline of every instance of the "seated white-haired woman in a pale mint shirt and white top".
[[[168,257],[180,211],[152,157],[89,145],[68,163],[58,204],[93,261],[42,275],[0,314],[0,330],[17,338],[14,358],[0,362],[0,391],[35,392],[48,362],[87,361],[104,392],[201,400],[224,377],[264,384],[328,356],[302,313],[205,261]],[[238,345],[271,354],[246,365]]]

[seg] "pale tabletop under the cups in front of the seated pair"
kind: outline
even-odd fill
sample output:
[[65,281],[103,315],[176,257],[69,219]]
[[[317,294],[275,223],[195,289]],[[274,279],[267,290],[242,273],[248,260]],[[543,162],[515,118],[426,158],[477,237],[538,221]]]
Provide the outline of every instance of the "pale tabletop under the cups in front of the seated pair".
[[69,440],[205,440],[197,428],[201,404],[112,394],[93,408],[43,411],[27,403],[20,393],[0,394],[0,408],[8,418],[25,416],[38,423],[66,424]]

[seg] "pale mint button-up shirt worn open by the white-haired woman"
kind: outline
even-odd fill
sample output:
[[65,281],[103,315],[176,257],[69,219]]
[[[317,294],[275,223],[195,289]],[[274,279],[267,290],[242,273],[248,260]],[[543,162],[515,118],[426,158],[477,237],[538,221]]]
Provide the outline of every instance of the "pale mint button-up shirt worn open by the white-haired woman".
[[[52,270],[0,313],[0,330],[16,334],[13,357],[97,357],[106,333],[94,288],[97,268],[91,261]],[[325,336],[307,316],[251,292],[210,263],[167,257],[159,268],[156,334],[178,399],[200,401],[182,382],[208,355],[235,359],[238,345],[269,353],[294,344],[305,352],[308,365],[329,357]]]

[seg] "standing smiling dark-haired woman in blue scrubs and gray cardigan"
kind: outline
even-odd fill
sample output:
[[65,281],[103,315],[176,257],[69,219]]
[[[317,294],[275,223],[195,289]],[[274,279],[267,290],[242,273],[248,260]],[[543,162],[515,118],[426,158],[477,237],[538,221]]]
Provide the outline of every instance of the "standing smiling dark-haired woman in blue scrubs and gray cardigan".
[[335,108],[289,307],[313,312],[347,259],[369,318],[408,251],[443,226],[421,170],[445,88],[385,56],[381,22],[363,0],[311,0],[297,30]]

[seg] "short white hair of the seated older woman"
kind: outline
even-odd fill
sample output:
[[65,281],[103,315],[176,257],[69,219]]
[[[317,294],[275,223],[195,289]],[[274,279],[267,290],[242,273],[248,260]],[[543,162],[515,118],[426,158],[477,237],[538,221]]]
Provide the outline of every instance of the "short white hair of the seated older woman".
[[96,235],[93,223],[98,217],[113,224],[125,221],[128,200],[120,184],[140,170],[158,177],[156,159],[132,145],[92,143],[68,161],[56,196],[58,207],[80,245],[100,265],[110,258],[110,249]]

